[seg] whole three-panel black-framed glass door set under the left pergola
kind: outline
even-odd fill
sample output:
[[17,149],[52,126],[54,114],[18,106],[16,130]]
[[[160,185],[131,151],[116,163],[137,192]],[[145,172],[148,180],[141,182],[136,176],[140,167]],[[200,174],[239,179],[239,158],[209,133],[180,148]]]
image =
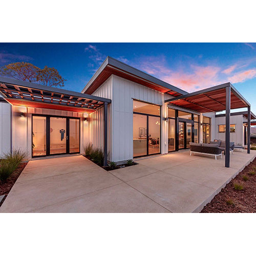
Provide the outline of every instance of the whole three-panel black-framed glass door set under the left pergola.
[[32,115],[32,157],[79,152],[79,118]]

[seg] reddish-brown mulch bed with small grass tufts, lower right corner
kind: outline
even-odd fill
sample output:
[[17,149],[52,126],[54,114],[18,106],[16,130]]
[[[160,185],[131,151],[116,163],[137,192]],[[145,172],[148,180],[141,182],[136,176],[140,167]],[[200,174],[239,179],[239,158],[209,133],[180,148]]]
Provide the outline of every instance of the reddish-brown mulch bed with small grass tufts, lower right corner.
[[[256,172],[256,158],[222,188],[201,212],[256,212],[256,174],[249,174],[253,171]],[[244,176],[248,177],[247,181],[243,179]],[[243,184],[243,190],[234,189],[233,184],[238,182]]]

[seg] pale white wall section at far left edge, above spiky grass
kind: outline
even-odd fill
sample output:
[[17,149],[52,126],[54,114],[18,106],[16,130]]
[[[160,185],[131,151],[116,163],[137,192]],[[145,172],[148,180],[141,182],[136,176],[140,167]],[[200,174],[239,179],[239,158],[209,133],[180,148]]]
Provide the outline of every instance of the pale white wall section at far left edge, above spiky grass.
[[0,102],[0,158],[11,151],[11,105]]

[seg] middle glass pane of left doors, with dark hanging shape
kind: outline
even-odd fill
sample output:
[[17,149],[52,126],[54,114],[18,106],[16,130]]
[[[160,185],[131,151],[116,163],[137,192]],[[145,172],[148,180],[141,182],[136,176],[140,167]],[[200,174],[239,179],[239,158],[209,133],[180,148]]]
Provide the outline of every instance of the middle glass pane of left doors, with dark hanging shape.
[[66,153],[66,118],[50,118],[50,154]]

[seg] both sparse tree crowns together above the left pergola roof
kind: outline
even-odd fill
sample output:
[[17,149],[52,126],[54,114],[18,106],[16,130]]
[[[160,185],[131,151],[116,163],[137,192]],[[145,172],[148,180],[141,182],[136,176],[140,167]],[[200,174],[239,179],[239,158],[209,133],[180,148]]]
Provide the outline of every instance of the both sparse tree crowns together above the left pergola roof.
[[28,82],[38,82],[45,86],[62,87],[63,79],[55,68],[40,69],[28,62],[16,62],[0,68],[0,75]]

